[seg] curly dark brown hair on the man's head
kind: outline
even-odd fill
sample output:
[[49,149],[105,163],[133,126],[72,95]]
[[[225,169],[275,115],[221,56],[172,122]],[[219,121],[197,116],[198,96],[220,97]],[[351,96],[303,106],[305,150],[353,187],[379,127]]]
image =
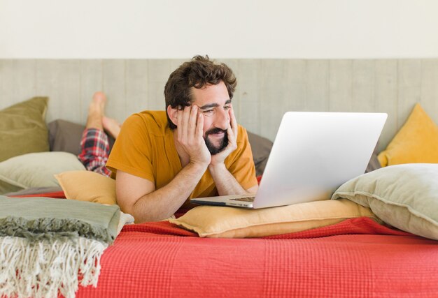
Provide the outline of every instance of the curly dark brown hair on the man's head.
[[[195,56],[190,61],[184,62],[169,76],[164,87],[164,98],[166,99],[166,110],[169,105],[172,108],[181,108],[191,105],[191,88],[202,89],[206,85],[216,85],[224,82],[227,87],[229,98],[233,98],[236,89],[236,77],[226,64],[215,64],[209,56]],[[167,122],[171,129],[176,125],[167,114]]]

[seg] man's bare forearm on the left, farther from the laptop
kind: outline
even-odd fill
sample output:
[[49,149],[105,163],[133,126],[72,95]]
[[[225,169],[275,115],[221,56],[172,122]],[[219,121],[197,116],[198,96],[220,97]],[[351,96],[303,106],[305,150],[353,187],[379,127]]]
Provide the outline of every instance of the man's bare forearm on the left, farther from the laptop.
[[134,204],[136,222],[161,221],[172,216],[190,196],[205,170],[202,165],[189,163],[169,184],[143,195]]

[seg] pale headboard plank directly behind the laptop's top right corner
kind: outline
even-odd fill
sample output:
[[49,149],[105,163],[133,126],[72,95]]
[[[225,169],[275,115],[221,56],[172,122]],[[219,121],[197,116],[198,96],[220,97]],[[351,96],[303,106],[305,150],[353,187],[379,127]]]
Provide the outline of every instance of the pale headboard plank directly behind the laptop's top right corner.
[[397,132],[397,60],[377,60],[374,77],[374,111],[388,113],[379,140],[381,151]]

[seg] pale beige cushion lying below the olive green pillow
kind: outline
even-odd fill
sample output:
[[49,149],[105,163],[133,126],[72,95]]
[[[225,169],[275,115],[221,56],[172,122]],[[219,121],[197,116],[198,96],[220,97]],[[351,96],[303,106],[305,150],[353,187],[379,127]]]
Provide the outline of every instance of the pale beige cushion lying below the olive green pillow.
[[0,193],[58,186],[53,175],[69,170],[85,170],[85,167],[76,156],[67,152],[15,156],[0,163]]

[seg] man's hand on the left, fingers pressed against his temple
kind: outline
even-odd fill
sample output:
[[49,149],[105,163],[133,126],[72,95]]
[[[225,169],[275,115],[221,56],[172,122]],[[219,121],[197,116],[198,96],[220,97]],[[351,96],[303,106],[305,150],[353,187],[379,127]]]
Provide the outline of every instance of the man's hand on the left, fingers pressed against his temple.
[[190,156],[190,163],[207,167],[211,154],[203,137],[204,117],[198,113],[197,105],[178,110],[177,125],[178,142]]

